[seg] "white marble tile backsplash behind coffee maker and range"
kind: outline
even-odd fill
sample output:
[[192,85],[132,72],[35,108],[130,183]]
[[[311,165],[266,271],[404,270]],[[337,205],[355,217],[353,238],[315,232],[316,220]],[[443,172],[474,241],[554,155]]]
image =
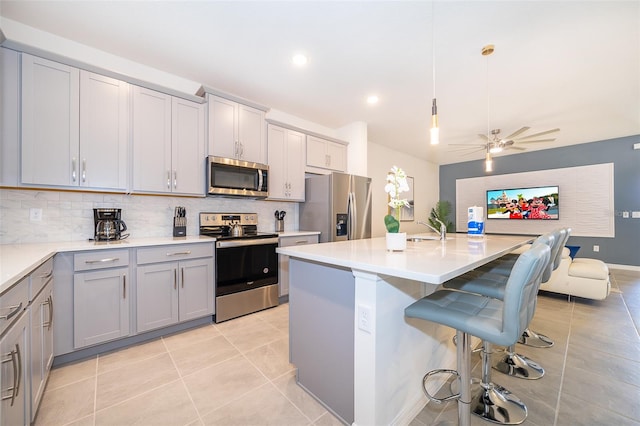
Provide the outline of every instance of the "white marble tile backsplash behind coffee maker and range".
[[[298,229],[298,203],[236,198],[189,198],[93,192],[2,189],[0,243],[43,243],[93,238],[93,209],[122,209],[129,238],[171,237],[176,206],[187,211],[187,235],[198,235],[198,213],[257,213],[258,230],[274,232],[275,210],[285,210],[285,231]],[[42,209],[32,221],[31,209]]]

